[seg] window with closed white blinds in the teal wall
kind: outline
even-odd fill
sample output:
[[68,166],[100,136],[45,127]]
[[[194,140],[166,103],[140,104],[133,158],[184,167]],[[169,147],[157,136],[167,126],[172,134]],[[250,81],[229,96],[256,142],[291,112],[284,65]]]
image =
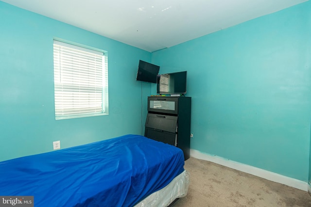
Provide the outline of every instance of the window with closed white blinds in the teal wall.
[[54,40],[55,119],[108,114],[108,69],[104,52]]

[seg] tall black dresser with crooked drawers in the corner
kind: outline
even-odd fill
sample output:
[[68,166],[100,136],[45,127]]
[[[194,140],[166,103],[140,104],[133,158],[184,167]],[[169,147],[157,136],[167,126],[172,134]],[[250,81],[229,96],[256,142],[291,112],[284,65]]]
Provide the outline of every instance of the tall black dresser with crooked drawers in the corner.
[[191,97],[148,97],[145,137],[172,144],[190,157]]

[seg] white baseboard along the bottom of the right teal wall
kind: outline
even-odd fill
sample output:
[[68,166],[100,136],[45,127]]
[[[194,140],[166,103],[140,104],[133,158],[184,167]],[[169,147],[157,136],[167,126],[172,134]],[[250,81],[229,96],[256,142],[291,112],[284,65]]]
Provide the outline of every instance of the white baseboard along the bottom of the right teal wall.
[[290,187],[294,187],[296,189],[302,190],[302,191],[308,191],[311,192],[311,186],[308,185],[307,182],[297,180],[291,177],[287,177],[284,175],[280,175],[277,173],[273,173],[267,170],[263,170],[257,167],[253,167],[250,165],[242,164],[240,162],[235,162],[232,160],[224,159],[217,156],[208,155],[205,153],[202,153],[198,150],[190,149],[190,156],[197,159],[204,159],[207,161],[211,161],[220,165],[224,165],[226,167],[242,171],[244,173],[248,173],[251,175],[256,175],[258,177],[265,178],[267,180],[271,180],[277,183],[281,183]]

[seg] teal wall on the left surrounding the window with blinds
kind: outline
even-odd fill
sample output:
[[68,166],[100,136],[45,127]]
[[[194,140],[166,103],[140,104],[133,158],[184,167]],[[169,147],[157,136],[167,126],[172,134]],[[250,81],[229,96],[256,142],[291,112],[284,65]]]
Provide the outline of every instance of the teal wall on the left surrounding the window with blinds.
[[[0,160],[141,134],[151,84],[136,72],[151,53],[1,1],[0,28]],[[54,37],[108,51],[109,115],[55,121]]]

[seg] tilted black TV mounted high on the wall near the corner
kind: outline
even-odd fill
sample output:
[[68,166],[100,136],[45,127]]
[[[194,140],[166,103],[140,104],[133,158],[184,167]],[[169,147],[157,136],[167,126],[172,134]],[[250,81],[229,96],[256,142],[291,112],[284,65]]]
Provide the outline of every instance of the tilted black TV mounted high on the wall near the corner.
[[139,60],[136,80],[156,83],[160,66]]

